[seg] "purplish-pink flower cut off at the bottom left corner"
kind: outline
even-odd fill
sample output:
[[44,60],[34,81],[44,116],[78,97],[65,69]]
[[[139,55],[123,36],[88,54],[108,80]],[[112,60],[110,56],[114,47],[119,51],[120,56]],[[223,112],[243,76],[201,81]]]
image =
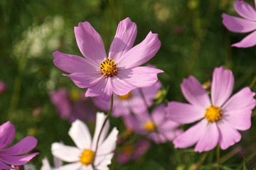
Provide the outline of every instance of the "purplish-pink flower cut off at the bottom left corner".
[[[9,121],[0,125],[0,169],[14,169],[6,164],[20,166],[29,162],[33,157],[39,153],[27,154],[17,156],[19,154],[26,154],[36,147],[37,140],[35,137],[24,137],[23,140],[16,143],[16,145],[8,147],[14,140],[15,128]],[[4,164],[4,162],[6,164]]]

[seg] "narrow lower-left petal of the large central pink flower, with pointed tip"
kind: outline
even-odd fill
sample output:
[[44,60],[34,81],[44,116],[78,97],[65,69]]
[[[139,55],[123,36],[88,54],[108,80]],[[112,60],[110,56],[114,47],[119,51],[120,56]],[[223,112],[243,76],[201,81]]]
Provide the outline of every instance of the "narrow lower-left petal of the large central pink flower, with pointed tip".
[[63,76],[70,77],[74,84],[80,88],[90,88],[91,86],[95,86],[95,84],[99,84],[102,79],[105,79],[105,77],[97,72],[91,74],[75,72],[73,74],[63,74]]

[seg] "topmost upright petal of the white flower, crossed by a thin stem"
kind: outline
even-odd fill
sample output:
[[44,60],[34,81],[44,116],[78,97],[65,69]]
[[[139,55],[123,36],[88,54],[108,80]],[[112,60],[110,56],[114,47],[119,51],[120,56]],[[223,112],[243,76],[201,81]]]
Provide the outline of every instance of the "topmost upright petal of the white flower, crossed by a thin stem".
[[[103,125],[106,117],[107,116],[104,113],[100,113],[100,112],[98,112],[97,115],[96,115],[95,132],[94,132],[94,135],[93,135],[92,147],[91,147],[92,150],[96,149],[97,140],[98,140],[98,137],[100,135],[100,130],[102,128],[102,125]],[[98,146],[100,146],[102,144],[103,140],[105,140],[105,137],[107,136],[107,132],[108,132],[109,129],[110,129],[110,121],[107,120],[107,123],[105,124],[105,126],[102,130],[102,133],[100,135],[100,140],[99,140]]]

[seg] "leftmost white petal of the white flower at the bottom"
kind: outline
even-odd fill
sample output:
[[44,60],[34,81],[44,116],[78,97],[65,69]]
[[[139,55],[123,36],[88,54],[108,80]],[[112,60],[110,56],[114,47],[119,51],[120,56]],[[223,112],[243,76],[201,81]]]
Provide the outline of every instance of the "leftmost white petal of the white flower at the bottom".
[[54,142],[51,146],[51,152],[54,157],[65,162],[78,162],[82,154],[82,150],[77,147],[70,147],[62,143]]

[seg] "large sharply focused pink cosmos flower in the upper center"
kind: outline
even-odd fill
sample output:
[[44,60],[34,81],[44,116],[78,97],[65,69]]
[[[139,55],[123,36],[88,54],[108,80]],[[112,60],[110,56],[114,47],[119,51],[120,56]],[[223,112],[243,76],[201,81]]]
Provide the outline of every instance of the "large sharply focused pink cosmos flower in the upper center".
[[85,96],[97,96],[110,101],[115,94],[123,96],[136,88],[152,86],[157,81],[160,69],[138,67],[149,61],[161,46],[158,35],[149,32],[146,38],[132,47],[137,36],[137,26],[129,18],[117,27],[107,57],[102,38],[88,22],[75,27],[75,38],[80,52],[85,57],[53,52],[54,64],[70,74],[80,88],[88,88]]

